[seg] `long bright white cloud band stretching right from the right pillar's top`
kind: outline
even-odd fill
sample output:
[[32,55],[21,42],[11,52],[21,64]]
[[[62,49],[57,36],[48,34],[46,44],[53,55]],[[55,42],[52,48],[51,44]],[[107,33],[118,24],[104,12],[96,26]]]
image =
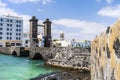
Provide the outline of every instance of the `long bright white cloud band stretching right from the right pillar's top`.
[[[68,28],[81,29],[82,33],[96,33],[104,29],[104,25],[96,22],[81,21],[79,19],[59,19],[53,20],[53,23]],[[98,29],[99,28],[99,29]]]

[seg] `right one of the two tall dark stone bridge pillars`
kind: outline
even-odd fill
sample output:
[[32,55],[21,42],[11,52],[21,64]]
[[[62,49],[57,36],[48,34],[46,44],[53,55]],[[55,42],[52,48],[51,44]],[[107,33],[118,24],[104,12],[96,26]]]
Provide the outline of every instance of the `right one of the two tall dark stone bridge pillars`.
[[44,47],[50,47],[51,46],[51,21],[49,19],[46,19],[44,24]]

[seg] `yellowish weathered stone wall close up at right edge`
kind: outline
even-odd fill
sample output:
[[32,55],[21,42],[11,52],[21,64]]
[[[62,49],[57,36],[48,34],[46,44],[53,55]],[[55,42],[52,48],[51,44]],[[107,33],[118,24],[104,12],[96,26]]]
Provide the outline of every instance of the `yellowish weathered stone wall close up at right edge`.
[[91,44],[91,80],[120,80],[120,20]]

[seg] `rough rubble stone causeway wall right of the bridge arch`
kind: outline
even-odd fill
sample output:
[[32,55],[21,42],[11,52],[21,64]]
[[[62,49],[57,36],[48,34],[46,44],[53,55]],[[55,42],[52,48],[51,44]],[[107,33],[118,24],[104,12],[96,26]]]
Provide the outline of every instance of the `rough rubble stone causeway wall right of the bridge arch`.
[[59,67],[90,70],[90,52],[85,48],[57,48],[55,57],[46,64]]

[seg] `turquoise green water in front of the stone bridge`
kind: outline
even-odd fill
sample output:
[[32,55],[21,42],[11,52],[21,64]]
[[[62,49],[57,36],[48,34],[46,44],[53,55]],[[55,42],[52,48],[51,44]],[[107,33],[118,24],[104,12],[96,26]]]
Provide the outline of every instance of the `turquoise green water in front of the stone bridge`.
[[44,61],[0,54],[0,80],[29,80],[55,70],[44,67]]

